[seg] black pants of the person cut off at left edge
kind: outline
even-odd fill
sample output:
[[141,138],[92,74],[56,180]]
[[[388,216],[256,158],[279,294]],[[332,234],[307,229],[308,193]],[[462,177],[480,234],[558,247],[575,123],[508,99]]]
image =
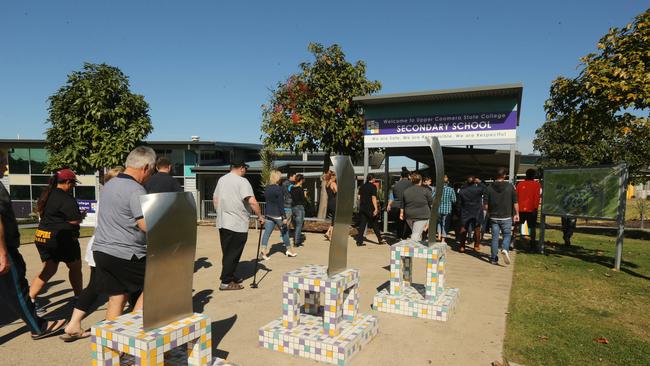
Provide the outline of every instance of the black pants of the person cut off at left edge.
[[0,300],[25,322],[32,334],[41,334],[46,321],[36,315],[25,279],[25,261],[18,248],[7,248],[11,269],[0,275]]

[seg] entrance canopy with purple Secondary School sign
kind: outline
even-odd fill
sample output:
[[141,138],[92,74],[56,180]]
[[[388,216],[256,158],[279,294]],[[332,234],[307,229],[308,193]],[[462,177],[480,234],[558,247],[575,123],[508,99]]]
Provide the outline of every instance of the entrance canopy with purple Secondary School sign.
[[512,180],[522,91],[523,85],[515,83],[355,97],[366,120],[364,166],[370,149],[383,150],[386,169],[390,156],[432,166],[427,137],[436,136],[450,178],[488,178],[497,167],[508,166]]

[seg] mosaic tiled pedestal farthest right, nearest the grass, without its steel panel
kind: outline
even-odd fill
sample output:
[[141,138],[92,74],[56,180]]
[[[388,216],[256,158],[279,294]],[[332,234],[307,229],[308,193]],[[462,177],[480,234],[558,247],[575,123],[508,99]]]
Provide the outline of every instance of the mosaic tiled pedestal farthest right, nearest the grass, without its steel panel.
[[[402,240],[390,251],[390,289],[373,299],[373,308],[387,313],[447,321],[458,301],[458,289],[446,289],[447,245],[427,246],[415,240]],[[413,284],[413,258],[427,260],[426,284]]]

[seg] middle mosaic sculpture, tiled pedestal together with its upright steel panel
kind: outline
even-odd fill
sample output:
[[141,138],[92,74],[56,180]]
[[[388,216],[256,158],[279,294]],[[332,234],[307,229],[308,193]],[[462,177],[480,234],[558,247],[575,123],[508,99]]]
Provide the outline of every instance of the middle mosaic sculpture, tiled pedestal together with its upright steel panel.
[[376,317],[357,312],[359,271],[347,268],[355,193],[352,161],[335,156],[332,163],[338,193],[328,267],[307,265],[285,273],[282,317],[260,328],[259,345],[342,366],[377,334],[378,326]]

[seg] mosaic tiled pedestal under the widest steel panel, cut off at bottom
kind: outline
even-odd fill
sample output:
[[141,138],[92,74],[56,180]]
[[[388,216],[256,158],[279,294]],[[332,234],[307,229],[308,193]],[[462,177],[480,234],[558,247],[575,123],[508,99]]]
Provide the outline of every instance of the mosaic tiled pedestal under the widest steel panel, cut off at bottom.
[[[221,359],[212,360],[211,323],[203,314],[195,313],[164,327],[144,331],[142,312],[136,311],[95,324],[91,334],[93,366],[117,366],[120,361],[139,366],[225,365]],[[169,352],[181,346],[187,348],[186,353]],[[122,360],[121,352],[125,354]],[[169,352],[167,357],[165,352]]]

